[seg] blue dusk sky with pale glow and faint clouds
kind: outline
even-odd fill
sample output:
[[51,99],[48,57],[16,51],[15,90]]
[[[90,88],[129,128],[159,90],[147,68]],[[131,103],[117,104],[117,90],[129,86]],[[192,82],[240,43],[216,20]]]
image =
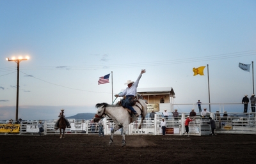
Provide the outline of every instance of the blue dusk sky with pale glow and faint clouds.
[[[173,87],[174,103],[241,103],[253,93],[256,1],[1,1],[0,120],[96,112],[127,80]],[[204,75],[193,68],[209,65]],[[107,75],[108,84],[98,85]],[[113,77],[113,81],[111,78]],[[240,107],[240,106],[239,106]],[[241,106],[243,108],[243,106]],[[191,107],[180,108],[189,112]],[[212,108],[212,111],[218,110]],[[243,109],[241,109],[241,112]],[[230,111],[231,112],[231,111]]]

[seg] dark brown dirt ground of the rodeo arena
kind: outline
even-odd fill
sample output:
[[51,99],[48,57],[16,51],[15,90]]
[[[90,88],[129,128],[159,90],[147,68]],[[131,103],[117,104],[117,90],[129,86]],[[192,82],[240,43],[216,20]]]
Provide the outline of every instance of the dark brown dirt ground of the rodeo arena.
[[254,163],[255,135],[0,135],[0,163]]

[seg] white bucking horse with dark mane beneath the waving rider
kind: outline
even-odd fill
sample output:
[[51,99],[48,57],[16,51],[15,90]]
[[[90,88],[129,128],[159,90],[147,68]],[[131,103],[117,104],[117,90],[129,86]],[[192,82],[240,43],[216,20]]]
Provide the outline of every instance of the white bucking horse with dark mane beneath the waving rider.
[[[141,116],[141,123],[139,126],[139,129],[141,128],[141,124],[143,123],[143,120],[145,119],[147,115],[147,104],[143,99],[141,99],[142,96],[137,101],[136,104],[133,106],[134,110]],[[131,115],[129,112],[120,105],[109,105],[108,103],[97,103],[95,107],[98,108],[97,113],[95,114],[93,121],[95,123],[98,123],[102,117],[108,116],[111,118],[116,126],[113,130],[111,130],[111,136],[109,140],[109,145],[113,143],[113,135],[116,130],[119,130],[120,128],[124,127],[123,130],[123,139],[122,139],[122,146],[126,145],[125,142],[125,133],[128,130],[129,124],[136,121],[138,117],[134,116],[132,114],[132,120],[130,119]]]

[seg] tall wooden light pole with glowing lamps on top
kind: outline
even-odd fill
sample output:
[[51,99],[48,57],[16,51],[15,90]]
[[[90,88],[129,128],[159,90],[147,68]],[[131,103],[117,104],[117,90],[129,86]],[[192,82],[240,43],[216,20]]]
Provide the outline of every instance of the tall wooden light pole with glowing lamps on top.
[[20,76],[20,61],[26,61],[28,60],[29,57],[26,58],[22,58],[19,57],[19,59],[15,59],[13,57],[13,59],[9,59],[8,57],[6,58],[6,61],[14,61],[15,63],[17,63],[17,97],[16,97],[16,121],[18,121],[18,111],[19,111],[19,76]]

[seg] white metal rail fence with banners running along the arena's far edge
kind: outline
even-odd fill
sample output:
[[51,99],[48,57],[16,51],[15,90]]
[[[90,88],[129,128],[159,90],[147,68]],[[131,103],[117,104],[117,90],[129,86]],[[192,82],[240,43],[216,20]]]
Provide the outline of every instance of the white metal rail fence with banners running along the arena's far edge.
[[[211,113],[209,116],[214,119],[216,124],[215,133],[232,133],[232,134],[256,134],[256,117],[255,113],[228,113],[228,117],[223,117],[223,113]],[[182,135],[185,131],[184,121],[188,114],[183,113],[178,118],[166,117],[166,128],[168,133],[166,135]],[[208,116],[208,117],[209,117]],[[154,119],[146,117],[143,121],[141,129],[138,129],[141,119],[129,124],[129,130],[126,131],[127,135],[162,135],[160,126],[161,115],[155,115]],[[42,135],[60,134],[60,130],[55,130],[54,126],[58,119],[43,121],[44,132]],[[66,134],[86,134],[86,135],[99,135],[99,126],[97,123],[92,123],[91,120],[83,119],[68,119],[71,128],[66,128]],[[8,121],[6,121],[7,124]],[[3,121],[2,121],[3,123]],[[39,121],[22,121],[20,123],[19,133],[1,133],[0,135],[39,135],[38,131]],[[0,124],[0,128],[3,128]],[[111,130],[115,128],[115,123],[108,117],[104,119],[104,134],[110,135]],[[115,135],[121,135],[122,129],[115,132]],[[209,135],[211,127],[209,119],[196,116],[195,121],[189,123],[189,135]]]

